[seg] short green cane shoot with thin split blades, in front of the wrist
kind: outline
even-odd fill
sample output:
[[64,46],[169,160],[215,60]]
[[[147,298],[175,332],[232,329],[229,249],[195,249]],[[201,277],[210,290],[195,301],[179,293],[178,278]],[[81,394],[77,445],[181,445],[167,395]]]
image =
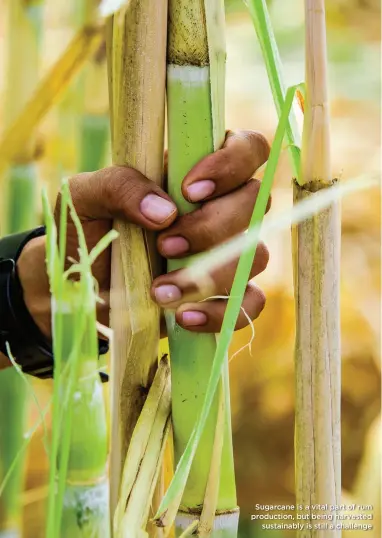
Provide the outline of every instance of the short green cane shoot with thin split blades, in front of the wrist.
[[[46,536],[108,538],[108,434],[98,372],[96,294],[85,238],[72,205],[71,218],[80,243],[80,280],[67,280],[64,273],[67,184],[64,189],[60,254],[44,198],[55,357]],[[103,241],[107,246],[106,239]]]

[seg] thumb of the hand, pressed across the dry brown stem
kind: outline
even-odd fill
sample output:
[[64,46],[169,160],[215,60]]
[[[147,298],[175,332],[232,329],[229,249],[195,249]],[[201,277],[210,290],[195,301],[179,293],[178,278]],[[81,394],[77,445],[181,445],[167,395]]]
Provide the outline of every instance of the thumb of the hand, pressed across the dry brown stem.
[[[69,188],[82,221],[119,219],[148,230],[167,228],[177,216],[171,198],[143,174],[124,166],[73,176]],[[59,214],[60,197],[55,214]]]

